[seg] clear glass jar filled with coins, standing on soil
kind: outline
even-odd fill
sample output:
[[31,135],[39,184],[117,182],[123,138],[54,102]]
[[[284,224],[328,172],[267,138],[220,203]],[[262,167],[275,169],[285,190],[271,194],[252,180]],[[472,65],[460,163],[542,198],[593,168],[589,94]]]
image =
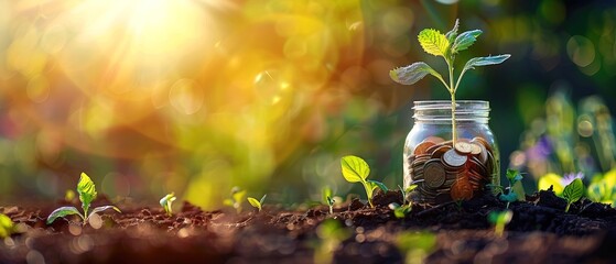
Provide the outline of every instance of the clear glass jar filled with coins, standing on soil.
[[468,200],[500,184],[500,154],[488,127],[489,102],[458,100],[456,140],[452,139],[452,103],[415,101],[414,124],[403,153],[407,199],[426,205]]

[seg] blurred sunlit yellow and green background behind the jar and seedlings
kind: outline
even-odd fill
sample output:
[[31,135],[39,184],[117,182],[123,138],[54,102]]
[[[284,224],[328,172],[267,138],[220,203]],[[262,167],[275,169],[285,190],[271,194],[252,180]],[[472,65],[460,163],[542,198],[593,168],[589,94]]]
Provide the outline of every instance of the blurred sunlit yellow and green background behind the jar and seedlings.
[[610,1],[0,0],[0,205],[61,198],[80,172],[111,198],[205,208],[234,186],[282,205],[363,194],[348,154],[401,185],[412,101],[449,95],[388,73],[443,70],[417,34],[456,18],[484,31],[460,64],[512,55],[457,92],[490,101],[502,168],[532,188],[614,166]]

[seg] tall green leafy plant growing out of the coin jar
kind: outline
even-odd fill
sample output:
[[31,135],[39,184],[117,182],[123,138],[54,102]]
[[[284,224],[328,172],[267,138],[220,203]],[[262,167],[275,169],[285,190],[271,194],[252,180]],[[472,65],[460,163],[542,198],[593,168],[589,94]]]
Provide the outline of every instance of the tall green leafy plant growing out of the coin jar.
[[437,30],[425,29],[422,30],[418,35],[419,43],[423,51],[425,51],[428,54],[440,56],[445,59],[450,77],[449,84],[443,79],[441,74],[436,73],[436,70],[432,69],[432,67],[423,62],[413,63],[409,66],[396,68],[389,72],[389,76],[391,77],[391,79],[402,85],[412,85],[422,79],[425,75],[430,74],[436,77],[436,79],[439,79],[445,86],[451,95],[452,100],[452,140],[454,145],[457,138],[455,127],[455,92],[460,87],[462,76],[464,76],[466,70],[474,69],[476,66],[500,64],[511,56],[509,54],[504,54],[497,56],[471,58],[462,68],[462,72],[460,73],[457,80],[454,84],[455,78],[453,69],[455,56],[460,52],[467,50],[471,45],[473,45],[473,43],[475,43],[475,41],[477,40],[477,36],[482,34],[480,30],[472,30],[463,32],[458,35],[457,28],[458,20],[455,21],[454,28],[446,34],[442,34]]

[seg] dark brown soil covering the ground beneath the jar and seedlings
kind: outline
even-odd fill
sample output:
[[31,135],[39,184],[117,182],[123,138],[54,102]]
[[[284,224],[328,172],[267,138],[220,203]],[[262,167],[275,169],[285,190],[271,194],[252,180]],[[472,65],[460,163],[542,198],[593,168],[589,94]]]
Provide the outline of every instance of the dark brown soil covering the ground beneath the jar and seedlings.
[[[122,213],[106,211],[98,224],[87,226],[77,219],[46,226],[46,216],[61,205],[0,207],[21,227],[21,233],[0,240],[0,263],[404,263],[422,251],[402,251],[420,245],[400,245],[397,238],[420,231],[436,238],[418,255],[428,263],[616,263],[616,210],[605,205],[582,200],[565,213],[563,199],[540,191],[509,206],[514,218],[497,237],[487,216],[506,204],[489,194],[460,205],[415,206],[397,219],[388,205],[401,199],[399,193],[379,193],[376,208],[353,200],[334,215],[327,207],[203,211],[184,202],[167,217],[159,207],[120,204]],[[327,219],[339,222],[347,235],[334,243],[331,256],[315,258],[327,245],[318,232]]]

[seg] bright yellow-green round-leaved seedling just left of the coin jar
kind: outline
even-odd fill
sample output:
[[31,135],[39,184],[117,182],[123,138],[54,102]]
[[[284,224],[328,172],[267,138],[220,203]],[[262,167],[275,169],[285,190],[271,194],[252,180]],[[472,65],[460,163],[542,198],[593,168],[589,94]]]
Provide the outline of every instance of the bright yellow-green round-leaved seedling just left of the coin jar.
[[358,156],[344,156],[341,160],[341,165],[343,167],[343,176],[349,183],[361,183],[364,189],[366,189],[366,196],[368,197],[368,204],[370,207],[372,205],[372,194],[376,188],[380,188],[382,191],[387,191],[388,188],[382,183],[367,179],[370,174],[370,167],[366,161]]

